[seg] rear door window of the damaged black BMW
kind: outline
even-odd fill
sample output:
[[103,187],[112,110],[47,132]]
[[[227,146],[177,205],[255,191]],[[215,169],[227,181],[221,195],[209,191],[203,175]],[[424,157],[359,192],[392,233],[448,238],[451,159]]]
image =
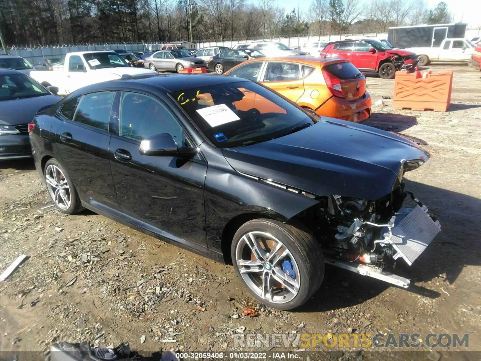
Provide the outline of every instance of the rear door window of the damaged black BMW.
[[77,106],[74,122],[108,131],[114,94],[114,91],[99,91],[84,95]]

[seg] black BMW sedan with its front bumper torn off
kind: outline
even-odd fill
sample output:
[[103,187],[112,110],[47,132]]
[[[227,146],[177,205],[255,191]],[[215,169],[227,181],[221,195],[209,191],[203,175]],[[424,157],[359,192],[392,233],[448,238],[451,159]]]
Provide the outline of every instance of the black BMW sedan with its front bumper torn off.
[[29,129],[61,211],[88,208],[231,263],[253,297],[278,309],[306,302],[326,263],[407,287],[389,271],[399,258],[411,265],[440,230],[404,187],[405,172],[429,158],[420,146],[318,117],[237,77],[95,84]]

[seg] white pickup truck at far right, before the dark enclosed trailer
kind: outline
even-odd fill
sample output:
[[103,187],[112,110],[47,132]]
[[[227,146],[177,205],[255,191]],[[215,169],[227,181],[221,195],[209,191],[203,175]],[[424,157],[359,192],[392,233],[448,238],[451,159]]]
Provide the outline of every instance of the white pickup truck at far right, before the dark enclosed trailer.
[[471,59],[474,45],[468,39],[444,39],[439,48],[409,48],[419,57],[419,66],[432,62],[463,62]]

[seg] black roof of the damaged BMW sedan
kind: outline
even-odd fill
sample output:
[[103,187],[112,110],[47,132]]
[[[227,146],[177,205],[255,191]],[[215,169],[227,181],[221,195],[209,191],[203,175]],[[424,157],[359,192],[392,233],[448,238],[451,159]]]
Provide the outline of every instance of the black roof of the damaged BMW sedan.
[[186,90],[192,88],[200,88],[205,86],[236,83],[240,81],[248,81],[243,78],[222,76],[217,74],[153,74],[141,75],[137,77],[123,77],[112,81],[97,83],[82,88],[81,93],[105,89],[106,87],[115,88],[110,84],[116,84],[119,87],[134,87],[134,83],[139,85],[139,88],[149,86],[163,88],[167,91]]

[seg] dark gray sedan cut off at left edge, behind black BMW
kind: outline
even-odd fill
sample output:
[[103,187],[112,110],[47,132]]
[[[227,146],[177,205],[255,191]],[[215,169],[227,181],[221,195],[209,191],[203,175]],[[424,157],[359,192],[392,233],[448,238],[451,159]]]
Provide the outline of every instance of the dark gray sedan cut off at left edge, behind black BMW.
[[17,70],[0,69],[0,161],[32,156],[28,123],[39,110],[60,99],[31,77]]

